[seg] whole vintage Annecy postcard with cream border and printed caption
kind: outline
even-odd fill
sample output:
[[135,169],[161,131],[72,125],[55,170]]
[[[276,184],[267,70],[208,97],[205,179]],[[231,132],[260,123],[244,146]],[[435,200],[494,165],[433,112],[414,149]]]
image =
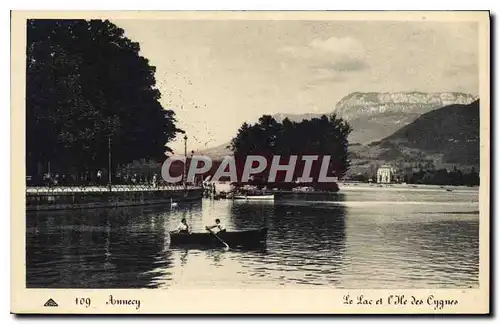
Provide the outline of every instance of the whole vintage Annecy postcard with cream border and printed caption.
[[488,314],[490,15],[12,12],[16,314]]

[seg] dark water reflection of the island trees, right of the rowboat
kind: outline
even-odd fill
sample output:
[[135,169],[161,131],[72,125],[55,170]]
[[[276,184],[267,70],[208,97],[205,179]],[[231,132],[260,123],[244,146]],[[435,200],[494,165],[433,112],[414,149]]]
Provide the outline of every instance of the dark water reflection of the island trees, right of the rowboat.
[[275,239],[271,242],[280,250],[277,270],[293,274],[292,281],[297,283],[336,284],[335,274],[345,255],[345,215],[343,206],[296,202],[276,206]]

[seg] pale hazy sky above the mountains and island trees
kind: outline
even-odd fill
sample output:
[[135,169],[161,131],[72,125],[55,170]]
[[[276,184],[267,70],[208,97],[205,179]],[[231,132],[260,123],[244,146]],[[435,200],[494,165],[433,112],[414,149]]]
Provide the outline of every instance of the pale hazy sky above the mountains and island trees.
[[113,22],[156,66],[189,149],[227,142],[264,113],[332,112],[355,91],[479,91],[475,23]]

